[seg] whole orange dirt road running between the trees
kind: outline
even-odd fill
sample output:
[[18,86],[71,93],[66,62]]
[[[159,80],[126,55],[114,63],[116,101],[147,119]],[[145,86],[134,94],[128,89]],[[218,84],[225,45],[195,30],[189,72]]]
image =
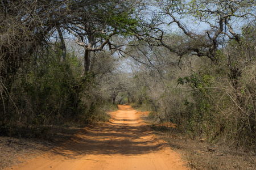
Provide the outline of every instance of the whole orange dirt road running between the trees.
[[61,147],[7,169],[187,169],[133,108],[118,108],[110,122],[85,128]]

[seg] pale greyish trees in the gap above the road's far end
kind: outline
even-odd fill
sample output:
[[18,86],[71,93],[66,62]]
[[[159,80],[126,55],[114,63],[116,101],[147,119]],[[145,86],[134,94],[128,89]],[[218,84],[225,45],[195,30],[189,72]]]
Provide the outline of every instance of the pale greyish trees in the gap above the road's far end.
[[99,52],[97,59],[93,59],[92,73],[95,74],[95,82],[100,88],[101,95],[115,104],[117,96],[129,91],[130,77],[123,70],[122,58],[117,53]]

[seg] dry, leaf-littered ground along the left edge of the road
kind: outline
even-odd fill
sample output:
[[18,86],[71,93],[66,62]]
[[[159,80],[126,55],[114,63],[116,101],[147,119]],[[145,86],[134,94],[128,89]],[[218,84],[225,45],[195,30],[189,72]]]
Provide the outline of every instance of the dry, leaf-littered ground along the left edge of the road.
[[0,137],[0,169],[35,158],[73,137],[81,128],[53,126],[47,140],[36,138]]

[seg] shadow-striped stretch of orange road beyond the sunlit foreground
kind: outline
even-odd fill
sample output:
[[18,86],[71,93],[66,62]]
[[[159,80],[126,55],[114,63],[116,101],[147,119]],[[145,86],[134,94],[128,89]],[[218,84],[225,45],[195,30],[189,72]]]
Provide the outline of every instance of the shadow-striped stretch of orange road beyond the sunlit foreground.
[[[85,155],[140,155],[159,151],[164,147],[152,134],[150,128],[139,121],[134,109],[119,107],[113,123],[82,130],[66,145],[52,150],[53,154],[67,158]],[[118,115],[119,114],[119,115]],[[129,115],[125,117],[125,115]],[[131,124],[131,121],[134,123]]]

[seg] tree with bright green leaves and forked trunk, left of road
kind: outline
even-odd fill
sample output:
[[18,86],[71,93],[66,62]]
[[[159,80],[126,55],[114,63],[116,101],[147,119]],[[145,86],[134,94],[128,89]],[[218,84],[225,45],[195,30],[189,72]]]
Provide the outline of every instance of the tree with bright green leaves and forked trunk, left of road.
[[[76,8],[77,18],[70,19],[63,25],[76,37],[76,43],[84,50],[84,74],[91,71],[91,52],[116,49],[111,39],[115,35],[131,35],[137,29],[138,22],[135,18],[134,8],[140,1],[97,1],[87,3],[85,7]],[[81,12],[83,14],[81,15]],[[75,15],[75,16],[76,16]]]

